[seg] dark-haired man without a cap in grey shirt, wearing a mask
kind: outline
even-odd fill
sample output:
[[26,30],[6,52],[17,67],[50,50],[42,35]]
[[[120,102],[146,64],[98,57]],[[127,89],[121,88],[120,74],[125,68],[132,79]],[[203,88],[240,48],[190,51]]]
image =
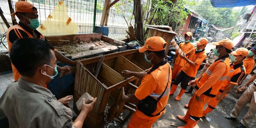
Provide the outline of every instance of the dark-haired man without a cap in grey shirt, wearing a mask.
[[71,109],[46,88],[58,74],[49,43],[36,38],[18,39],[13,43],[10,58],[21,74],[18,82],[9,84],[0,98],[0,109],[10,128],[82,128],[96,98],[90,104],[83,99],[81,113],[73,122]]

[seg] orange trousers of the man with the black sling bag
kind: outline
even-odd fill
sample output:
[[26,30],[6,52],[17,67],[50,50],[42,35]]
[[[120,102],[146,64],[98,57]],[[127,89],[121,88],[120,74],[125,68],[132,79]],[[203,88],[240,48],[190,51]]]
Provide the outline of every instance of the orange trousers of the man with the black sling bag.
[[131,120],[129,121],[127,128],[152,128],[157,119],[141,119],[136,115],[136,113],[134,113]]

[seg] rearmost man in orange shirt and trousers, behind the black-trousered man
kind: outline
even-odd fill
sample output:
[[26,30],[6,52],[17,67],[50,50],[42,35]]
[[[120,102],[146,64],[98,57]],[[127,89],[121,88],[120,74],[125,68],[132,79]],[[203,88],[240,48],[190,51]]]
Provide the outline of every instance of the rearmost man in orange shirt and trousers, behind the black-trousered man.
[[[194,48],[194,45],[190,43],[190,40],[192,39],[193,34],[191,32],[187,32],[184,35],[185,38],[185,42],[181,43],[179,45],[179,47],[181,48],[181,50],[184,53],[187,53],[188,51],[190,51],[191,49]],[[177,77],[177,75],[181,72],[183,66],[186,64],[187,62],[182,59],[178,52],[176,51],[176,55],[174,56],[174,68],[173,68],[173,72],[172,72],[172,81],[174,82],[175,78]]]

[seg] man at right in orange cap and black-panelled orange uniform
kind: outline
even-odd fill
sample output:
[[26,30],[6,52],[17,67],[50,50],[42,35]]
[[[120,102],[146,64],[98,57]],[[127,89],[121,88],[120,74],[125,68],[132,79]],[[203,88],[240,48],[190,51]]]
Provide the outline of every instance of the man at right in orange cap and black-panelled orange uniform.
[[220,100],[224,99],[229,91],[241,81],[246,74],[246,68],[243,65],[243,59],[248,55],[246,48],[238,48],[236,51],[231,53],[230,60],[232,63],[229,67],[229,74],[223,82],[216,98],[212,98],[208,103],[207,108],[203,111],[202,117],[206,116],[207,113],[211,112],[216,108]]

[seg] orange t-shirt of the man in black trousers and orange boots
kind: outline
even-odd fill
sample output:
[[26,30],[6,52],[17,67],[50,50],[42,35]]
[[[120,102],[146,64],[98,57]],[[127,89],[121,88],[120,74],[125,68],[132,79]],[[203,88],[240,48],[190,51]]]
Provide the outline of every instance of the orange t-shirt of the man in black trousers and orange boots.
[[203,62],[203,60],[206,58],[207,55],[205,51],[202,51],[196,54],[196,47],[190,50],[187,53],[187,55],[189,56],[188,59],[192,62],[195,62],[196,65],[192,66],[189,63],[186,63],[182,71],[187,75],[189,75],[190,77],[195,77],[200,64]]

